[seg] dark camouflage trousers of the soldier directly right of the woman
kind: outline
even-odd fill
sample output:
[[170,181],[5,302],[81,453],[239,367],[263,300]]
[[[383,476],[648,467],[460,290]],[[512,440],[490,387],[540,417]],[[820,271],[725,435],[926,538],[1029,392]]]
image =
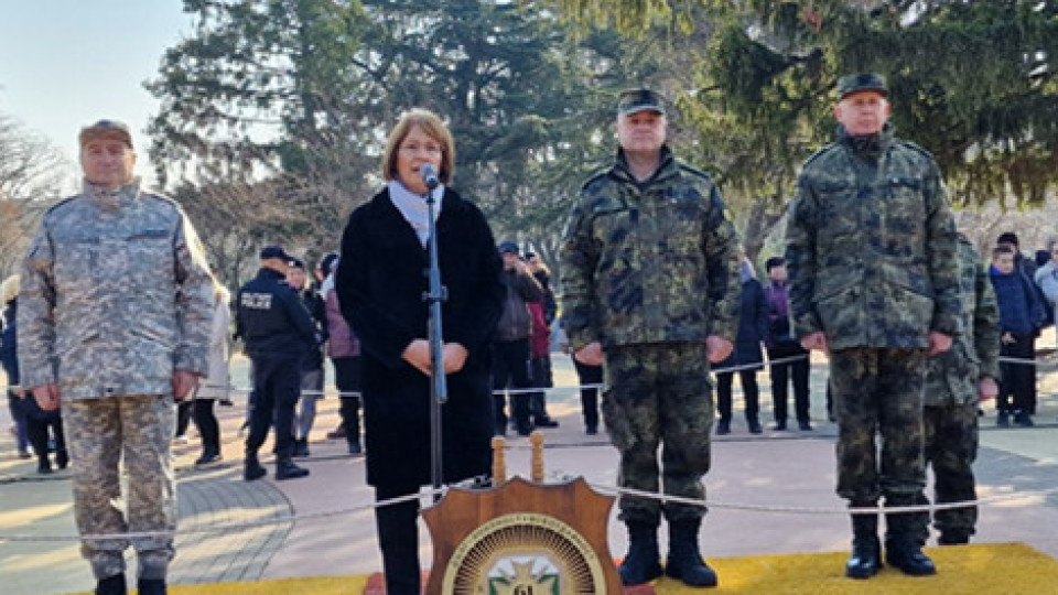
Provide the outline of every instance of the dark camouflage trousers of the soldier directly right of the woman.
[[[612,347],[604,377],[603,416],[620,451],[618,485],[704,499],[714,415],[704,343]],[[619,518],[633,522],[657,523],[662,511],[659,501],[635,497],[622,497],[619,507]],[[663,511],[670,522],[705,513],[673,504]]]

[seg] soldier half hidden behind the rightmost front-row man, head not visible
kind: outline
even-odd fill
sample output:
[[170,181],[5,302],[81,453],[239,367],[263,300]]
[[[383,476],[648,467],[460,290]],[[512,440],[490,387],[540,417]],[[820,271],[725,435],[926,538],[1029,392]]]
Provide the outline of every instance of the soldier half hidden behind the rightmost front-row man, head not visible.
[[[959,237],[962,329],[951,349],[929,360],[926,377],[926,464],[933,468],[936,501],[976,499],[978,382],[1000,377],[1000,312],[995,292],[973,245]],[[944,537],[969,538],[976,507],[938,510],[933,524]]]

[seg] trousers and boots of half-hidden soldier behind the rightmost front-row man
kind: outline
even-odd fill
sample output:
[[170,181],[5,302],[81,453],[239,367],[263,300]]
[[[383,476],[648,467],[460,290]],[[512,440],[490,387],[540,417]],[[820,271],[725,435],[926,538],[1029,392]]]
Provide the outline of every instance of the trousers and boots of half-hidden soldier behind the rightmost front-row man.
[[[978,458],[978,408],[975,404],[926,405],[926,464],[933,469],[937,504],[974,500],[973,462]],[[933,527],[941,534],[970,537],[978,508],[933,512]]]

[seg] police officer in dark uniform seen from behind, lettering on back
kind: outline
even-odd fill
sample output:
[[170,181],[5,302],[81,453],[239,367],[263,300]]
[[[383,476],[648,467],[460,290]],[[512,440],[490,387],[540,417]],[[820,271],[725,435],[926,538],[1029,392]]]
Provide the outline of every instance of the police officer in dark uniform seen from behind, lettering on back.
[[253,364],[253,394],[250,433],[246,437],[247,482],[264,477],[257,452],[268,429],[276,425],[276,479],[295,479],[309,469],[294,465],[294,407],[301,394],[301,359],[309,346],[319,343],[316,326],[301,295],[284,283],[291,258],[282,248],[261,250],[257,277],[239,290],[237,333],[246,342]]

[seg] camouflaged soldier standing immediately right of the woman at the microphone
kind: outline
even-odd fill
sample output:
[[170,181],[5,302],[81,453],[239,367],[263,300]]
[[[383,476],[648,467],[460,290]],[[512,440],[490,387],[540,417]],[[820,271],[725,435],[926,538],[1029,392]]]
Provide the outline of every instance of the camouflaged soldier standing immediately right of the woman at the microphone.
[[[709,176],[665,144],[666,127],[656,93],[620,96],[617,162],[584,185],[562,244],[562,325],[577,360],[605,358],[603,415],[620,451],[620,486],[704,499],[714,416],[709,361],[727,357],[737,333],[737,238]],[[702,508],[627,497],[624,584],[662,573],[662,511],[670,537],[663,572],[716,585],[699,553]]]

